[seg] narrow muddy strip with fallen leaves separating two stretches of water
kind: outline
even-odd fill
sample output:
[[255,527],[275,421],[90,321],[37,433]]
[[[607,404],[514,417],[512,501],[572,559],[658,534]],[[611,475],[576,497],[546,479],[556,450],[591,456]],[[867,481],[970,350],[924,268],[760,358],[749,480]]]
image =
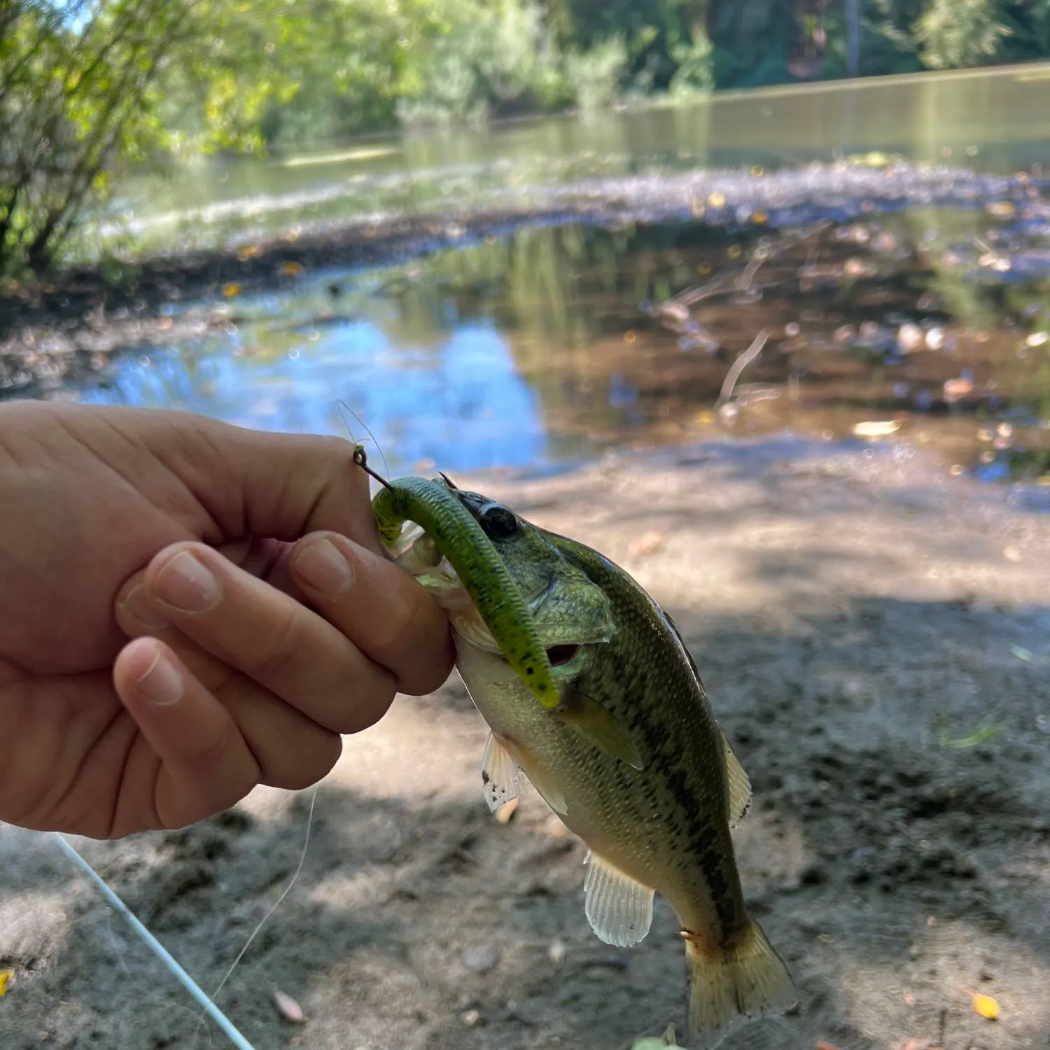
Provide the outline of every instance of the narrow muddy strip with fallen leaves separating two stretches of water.
[[[700,222],[717,229],[780,229],[847,223],[905,208],[1012,208],[1047,223],[1042,175],[980,174],[959,168],[814,164],[778,172],[699,169],[488,191],[469,208],[378,212],[290,226],[279,237],[233,237],[208,251],[70,268],[25,287],[0,285],[0,340],[20,329],[72,332],[107,313],[149,316],[184,300],[222,297],[225,285],[279,289],[304,271],[345,270],[462,247],[527,226]],[[192,216],[191,216],[192,217]],[[203,220],[203,213],[202,213]],[[1034,260],[1048,266],[1046,260]]]

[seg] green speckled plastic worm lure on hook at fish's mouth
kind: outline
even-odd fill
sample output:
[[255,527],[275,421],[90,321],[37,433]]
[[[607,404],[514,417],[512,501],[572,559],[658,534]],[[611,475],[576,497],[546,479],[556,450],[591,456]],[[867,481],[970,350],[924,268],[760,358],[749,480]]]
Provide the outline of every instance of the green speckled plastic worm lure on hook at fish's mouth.
[[406,521],[419,525],[448,559],[507,663],[545,708],[556,708],[561,695],[528,606],[492,542],[456,498],[454,486],[444,478],[386,481],[368,466],[360,445],[354,448],[354,462],[383,486],[372,501],[383,543],[393,547]]

